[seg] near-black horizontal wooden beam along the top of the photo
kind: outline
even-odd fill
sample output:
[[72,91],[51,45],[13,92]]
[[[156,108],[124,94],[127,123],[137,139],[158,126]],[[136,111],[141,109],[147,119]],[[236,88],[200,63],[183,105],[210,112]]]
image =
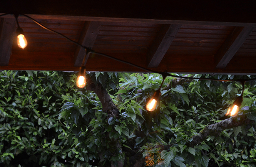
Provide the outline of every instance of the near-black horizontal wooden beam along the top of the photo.
[[[61,4],[61,5],[60,5]],[[163,12],[164,11],[164,12]],[[163,1],[120,1],[120,0],[1,0],[0,12],[38,15],[69,15],[108,18],[136,18],[149,20],[219,21],[256,23],[255,0],[208,1],[191,0]]]

